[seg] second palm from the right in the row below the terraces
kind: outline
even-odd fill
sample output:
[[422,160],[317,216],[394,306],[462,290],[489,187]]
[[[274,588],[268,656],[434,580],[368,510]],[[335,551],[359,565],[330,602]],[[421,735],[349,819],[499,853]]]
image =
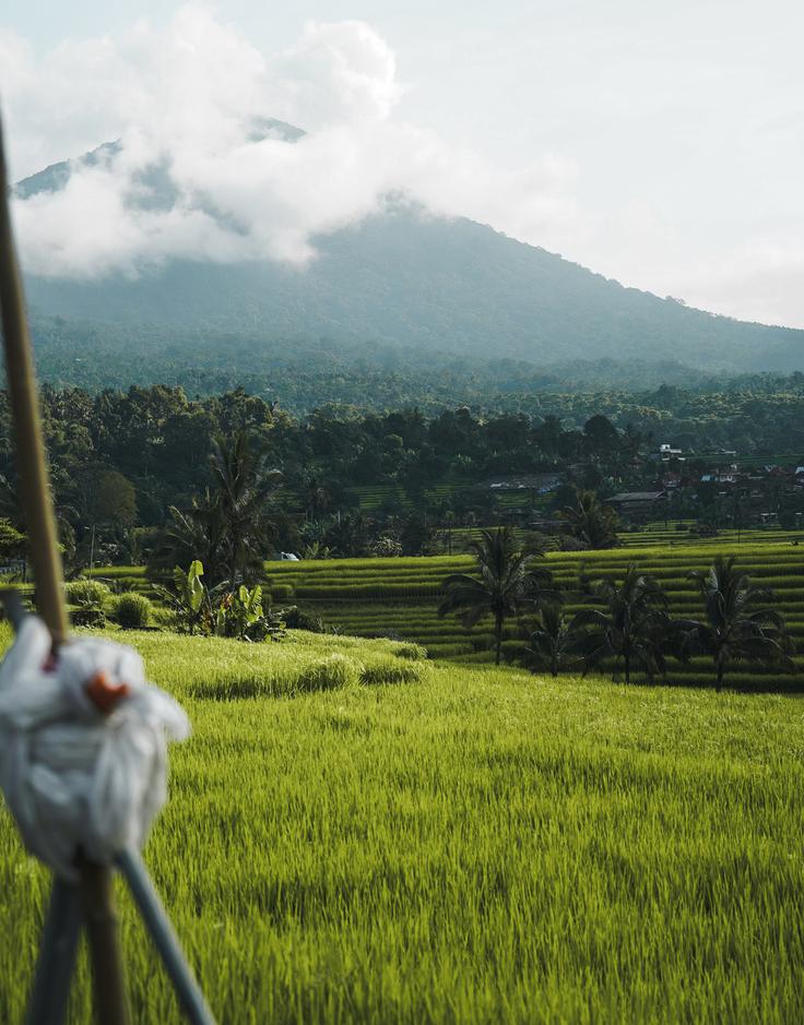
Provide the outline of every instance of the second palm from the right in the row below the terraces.
[[665,611],[667,596],[659,582],[631,562],[622,583],[599,581],[594,594],[605,611],[588,609],[572,620],[574,630],[588,631],[584,671],[611,655],[615,675],[622,660],[626,683],[630,683],[634,666],[640,666],[650,680],[654,674],[664,672],[663,646],[669,637],[670,618]]

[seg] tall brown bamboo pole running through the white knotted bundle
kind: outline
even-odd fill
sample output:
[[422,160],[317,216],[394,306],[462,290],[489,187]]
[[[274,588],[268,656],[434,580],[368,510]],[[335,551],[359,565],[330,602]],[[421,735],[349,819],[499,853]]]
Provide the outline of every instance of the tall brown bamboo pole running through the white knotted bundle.
[[[9,208],[9,180],[0,122],[0,309],[9,397],[16,433],[17,472],[36,604],[57,647],[67,639],[61,555],[48,482],[25,299]],[[111,873],[80,858],[81,890],[100,1025],[127,1025],[122,961],[111,894]]]

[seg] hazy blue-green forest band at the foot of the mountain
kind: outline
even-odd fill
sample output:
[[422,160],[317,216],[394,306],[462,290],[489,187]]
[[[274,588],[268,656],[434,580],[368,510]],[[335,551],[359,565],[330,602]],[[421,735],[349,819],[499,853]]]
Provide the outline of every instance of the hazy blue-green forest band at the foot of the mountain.
[[729,434],[741,418],[747,426],[762,415],[762,404],[772,420],[778,406],[799,402],[804,391],[801,372],[702,373],[670,359],[534,365],[433,348],[332,346],[289,335],[98,324],[36,313],[32,327],[39,374],[59,390],[163,384],[181,388],[190,397],[209,397],[244,388],[299,417],[326,406],[348,407],[347,415],[416,407],[433,417],[465,405],[482,416],[553,413],[576,425],[595,413],[620,426],[669,418],[669,428],[691,425],[696,432],[699,421],[710,425],[716,418]]

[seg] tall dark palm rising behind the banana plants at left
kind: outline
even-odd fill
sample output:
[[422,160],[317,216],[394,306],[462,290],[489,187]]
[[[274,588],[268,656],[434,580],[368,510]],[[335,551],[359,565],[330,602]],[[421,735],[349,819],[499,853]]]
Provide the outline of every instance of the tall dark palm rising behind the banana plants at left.
[[215,438],[210,468],[226,525],[228,575],[234,587],[249,572],[262,572],[271,533],[268,505],[281,475],[265,469],[265,452],[253,449],[247,431],[238,431],[230,440]]

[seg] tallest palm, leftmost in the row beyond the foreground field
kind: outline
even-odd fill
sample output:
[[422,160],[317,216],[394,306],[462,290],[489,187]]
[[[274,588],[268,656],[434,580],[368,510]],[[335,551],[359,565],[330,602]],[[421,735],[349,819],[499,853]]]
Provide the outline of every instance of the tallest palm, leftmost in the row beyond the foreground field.
[[545,597],[544,585],[551,580],[547,570],[533,563],[543,558],[540,548],[520,549],[511,527],[481,531],[471,543],[477,563],[477,576],[453,573],[444,582],[447,592],[438,608],[439,616],[457,612],[466,629],[484,616],[494,617],[495,664],[503,653],[503,624],[528,605]]

